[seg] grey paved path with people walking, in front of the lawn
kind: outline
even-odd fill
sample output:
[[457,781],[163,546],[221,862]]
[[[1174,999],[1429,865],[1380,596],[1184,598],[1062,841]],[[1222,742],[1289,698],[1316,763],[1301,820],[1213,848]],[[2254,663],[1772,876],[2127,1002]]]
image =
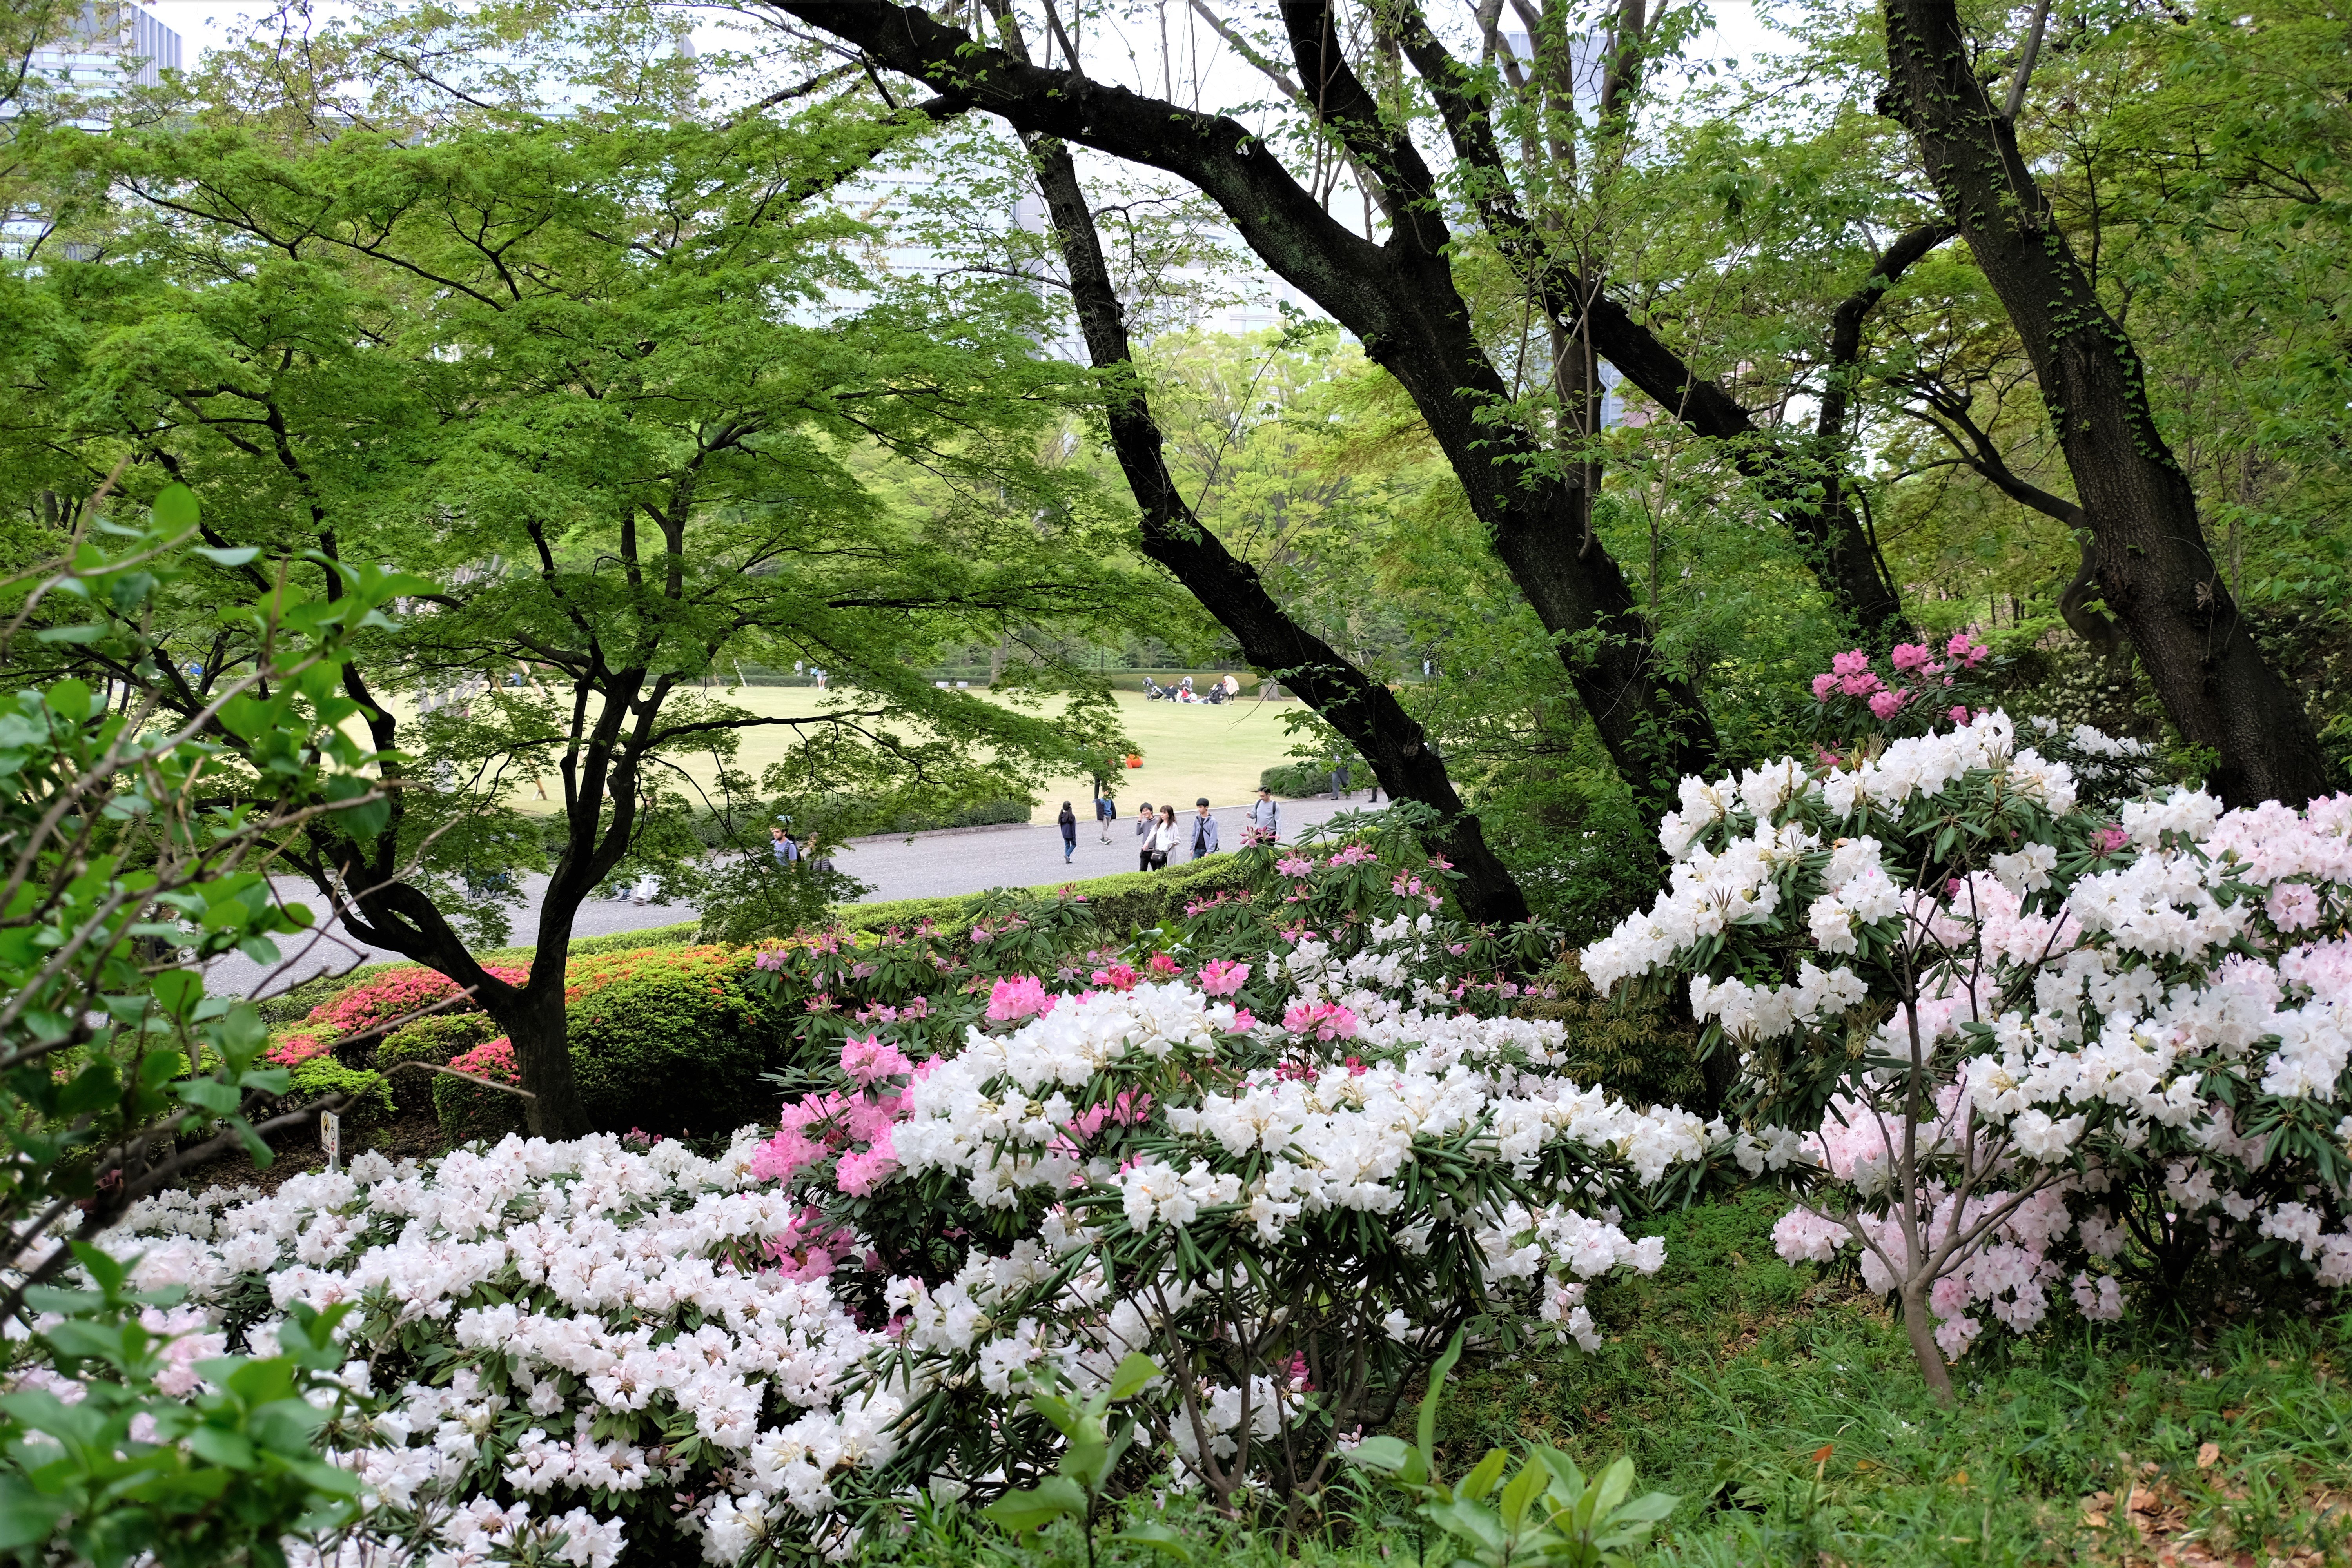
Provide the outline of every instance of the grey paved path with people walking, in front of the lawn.
[[[1343,809],[1348,809],[1348,802],[1287,799],[1282,802],[1282,837],[1291,839]],[[1355,809],[1364,809],[1362,797],[1355,799]],[[1242,842],[1244,813],[1244,806],[1214,811],[1225,849]],[[1190,811],[1185,811],[1185,818],[1190,818]],[[931,832],[915,839],[866,839],[844,846],[840,863],[858,882],[873,884],[866,903],[948,898],[955,893],[981,893],[993,886],[1042,886],[1080,877],[1108,877],[1110,872],[1136,870],[1136,818],[1129,813],[1127,820],[1115,823],[1110,827],[1110,844],[1103,844],[1103,835],[1094,823],[1080,823],[1077,853],[1068,865],[1061,858],[1061,827],[1051,823],[1042,827]],[[515,943],[529,943],[532,931],[539,929],[539,900],[546,896],[546,877],[532,875],[522,879],[522,900],[510,917]],[[325,907],[318,891],[294,877],[280,877],[278,893],[287,903],[306,903],[310,910]],[[675,926],[682,919],[694,919],[689,905],[635,905],[590,898],[581,905],[579,919],[572,924],[572,936],[614,936],[647,926]],[[270,976],[270,971],[263,971],[252,959],[228,954],[214,959],[205,971],[205,987],[216,997],[245,997],[268,978],[268,990],[275,994],[318,973],[400,957],[397,952],[381,952],[348,938],[341,924],[329,924],[315,938],[287,938],[280,947],[287,954],[287,961],[280,966],[282,973]]]

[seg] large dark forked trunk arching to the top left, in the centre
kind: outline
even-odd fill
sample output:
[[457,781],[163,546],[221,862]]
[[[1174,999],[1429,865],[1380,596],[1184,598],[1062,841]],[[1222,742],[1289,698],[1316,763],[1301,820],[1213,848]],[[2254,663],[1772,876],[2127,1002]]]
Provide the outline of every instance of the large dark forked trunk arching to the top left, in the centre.
[[[1538,477],[1550,454],[1534,433],[1496,418],[1496,409],[1510,404],[1510,388],[1454,287],[1446,202],[1411,139],[1381,125],[1378,106],[1343,59],[1329,5],[1284,5],[1282,14],[1303,92],[1390,190],[1397,221],[1378,244],[1331,219],[1263,136],[1225,115],[1183,110],[1075,71],[1030,66],[917,7],[771,2],[1025,134],[1167,169],[1209,195],[1277,275],[1357,334],[1364,353],[1411,395],[1496,557],[1552,632],[1644,816],[1656,820],[1675,804],[1682,773],[1715,766],[1715,726],[1698,693],[1658,663],[1625,576],[1583,536],[1571,487]],[[1298,682],[1291,689],[1305,696]]]

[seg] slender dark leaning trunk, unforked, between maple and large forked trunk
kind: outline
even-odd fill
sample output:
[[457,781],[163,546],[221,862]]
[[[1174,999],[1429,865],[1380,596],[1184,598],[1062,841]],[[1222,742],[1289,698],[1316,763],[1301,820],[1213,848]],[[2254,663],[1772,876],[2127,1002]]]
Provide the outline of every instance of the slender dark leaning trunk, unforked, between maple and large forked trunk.
[[1054,233],[1070,270],[1070,296],[1087,336],[1087,357],[1098,371],[1122,383],[1110,388],[1110,447],[1127,475],[1127,487],[1143,512],[1143,552],[1176,574],[1192,597],[1232,632],[1249,663],[1275,670],[1315,712],[1371,762],[1374,776],[1390,799],[1414,799],[1444,818],[1435,849],[1463,875],[1456,898],[1479,924],[1526,919],[1526,896],[1510,870],[1486,846],[1479,827],[1444,762],[1430,750],[1421,724],[1404,712],[1397,696],[1341,654],[1298,625],[1258,578],[1249,562],[1237,559],[1202,527],[1176,489],[1160,442],[1160,423],[1134,378],[1134,353],[1127,341],[1127,315],[1103,244],[1077,183],[1070,150],[1054,139],[1030,139],[1037,160],[1037,186],[1054,214]]

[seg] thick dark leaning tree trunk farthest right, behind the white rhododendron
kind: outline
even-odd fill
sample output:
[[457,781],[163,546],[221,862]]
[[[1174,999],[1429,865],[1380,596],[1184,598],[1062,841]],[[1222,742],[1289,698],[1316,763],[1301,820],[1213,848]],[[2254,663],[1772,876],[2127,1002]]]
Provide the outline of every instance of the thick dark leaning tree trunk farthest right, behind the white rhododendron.
[[1955,0],[1884,0],[1879,113],[1917,139],[1945,216],[2002,299],[2091,524],[2096,576],[2183,738],[2232,806],[2331,788],[2296,691],[2263,658],[2206,548],[2197,496],[2147,407],[2140,360],[1976,78]]

